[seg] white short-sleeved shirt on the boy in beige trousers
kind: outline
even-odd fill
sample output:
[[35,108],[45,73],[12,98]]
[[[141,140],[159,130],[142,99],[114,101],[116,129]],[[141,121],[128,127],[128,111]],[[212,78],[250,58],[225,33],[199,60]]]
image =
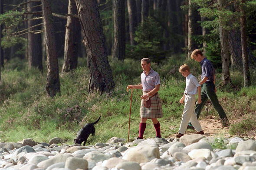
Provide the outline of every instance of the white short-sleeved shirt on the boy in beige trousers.
[[191,73],[186,77],[186,89],[184,94],[197,94],[197,88],[200,84],[197,81],[197,78]]

